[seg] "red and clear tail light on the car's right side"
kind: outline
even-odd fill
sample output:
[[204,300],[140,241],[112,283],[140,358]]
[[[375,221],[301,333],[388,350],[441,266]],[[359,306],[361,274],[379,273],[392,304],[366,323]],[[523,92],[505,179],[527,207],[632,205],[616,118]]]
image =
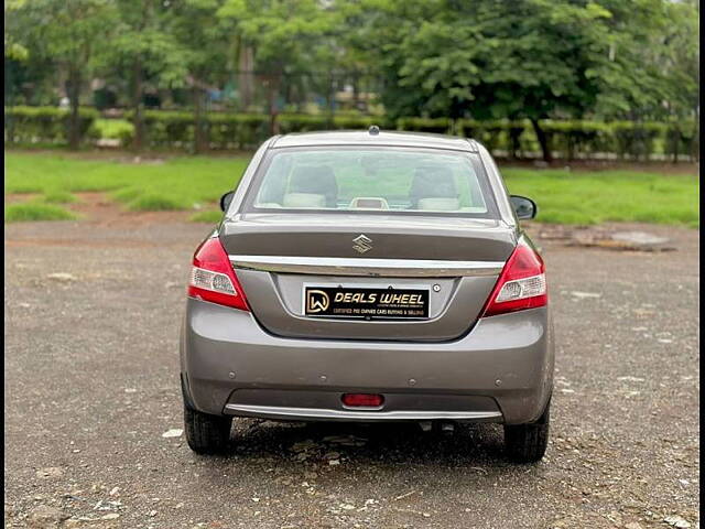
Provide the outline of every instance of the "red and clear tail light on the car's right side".
[[547,302],[543,259],[529,245],[520,242],[499,276],[484,316],[544,306]]

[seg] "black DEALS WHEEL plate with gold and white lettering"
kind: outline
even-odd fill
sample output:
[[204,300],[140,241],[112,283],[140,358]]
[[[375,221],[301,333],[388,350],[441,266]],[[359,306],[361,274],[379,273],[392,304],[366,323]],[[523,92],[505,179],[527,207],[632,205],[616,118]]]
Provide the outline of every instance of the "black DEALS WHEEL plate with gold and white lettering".
[[304,313],[306,316],[369,320],[429,317],[429,291],[305,287]]

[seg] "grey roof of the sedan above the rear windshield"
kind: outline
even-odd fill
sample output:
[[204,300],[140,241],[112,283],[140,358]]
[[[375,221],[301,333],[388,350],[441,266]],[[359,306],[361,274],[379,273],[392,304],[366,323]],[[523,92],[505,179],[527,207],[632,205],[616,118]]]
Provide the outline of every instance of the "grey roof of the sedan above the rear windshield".
[[420,147],[430,149],[451,149],[455,151],[477,152],[474,140],[454,136],[430,134],[400,131],[327,131],[300,132],[275,137],[270,149],[288,147],[326,147],[326,145],[384,145],[384,147]]

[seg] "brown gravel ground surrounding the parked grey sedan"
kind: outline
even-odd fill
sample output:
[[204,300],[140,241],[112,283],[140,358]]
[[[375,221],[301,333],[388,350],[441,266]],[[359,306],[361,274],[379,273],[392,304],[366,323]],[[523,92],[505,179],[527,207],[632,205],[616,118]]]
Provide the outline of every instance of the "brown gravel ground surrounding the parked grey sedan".
[[698,234],[633,228],[677,250],[538,240],[552,442],[514,466],[496,425],[239,420],[231,455],[196,456],[163,434],[182,428],[177,330],[210,228],[6,226],[6,527],[698,527]]

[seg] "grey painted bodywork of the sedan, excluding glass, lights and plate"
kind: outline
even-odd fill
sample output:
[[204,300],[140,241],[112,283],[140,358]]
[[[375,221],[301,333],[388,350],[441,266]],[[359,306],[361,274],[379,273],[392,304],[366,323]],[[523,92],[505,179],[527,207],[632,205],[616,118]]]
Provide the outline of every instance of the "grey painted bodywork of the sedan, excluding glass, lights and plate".
[[[241,214],[269,149],[390,145],[466,151],[479,156],[497,219],[365,214]],[[372,249],[359,256],[351,239]],[[505,262],[525,235],[492,158],[475,141],[380,132],[274,137],[257,151],[218,227],[238,256]],[[525,238],[531,246],[531,241]],[[262,261],[262,259],[260,259]],[[290,259],[291,262],[291,259]],[[336,261],[337,262],[337,261]],[[329,262],[328,262],[329,263]],[[481,309],[497,274],[359,277],[292,273],[250,259],[237,269],[252,312],[188,299],[181,366],[188,404],[206,413],[301,420],[475,420],[509,424],[539,418],[553,387],[554,338],[547,306],[491,317]],[[236,267],[237,268],[237,267]],[[355,269],[355,267],[352,267]],[[359,268],[358,268],[359,269]],[[301,272],[301,270],[300,270]],[[377,271],[372,276],[375,276]],[[424,321],[317,320],[303,316],[304,284],[435,284]],[[344,392],[379,392],[379,410],[346,409]]]

